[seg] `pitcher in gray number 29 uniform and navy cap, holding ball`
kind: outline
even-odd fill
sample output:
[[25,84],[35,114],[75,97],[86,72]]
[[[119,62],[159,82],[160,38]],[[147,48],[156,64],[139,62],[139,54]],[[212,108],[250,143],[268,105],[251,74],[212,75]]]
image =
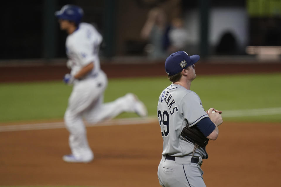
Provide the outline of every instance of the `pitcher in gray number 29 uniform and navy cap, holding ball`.
[[178,51],[165,62],[172,84],[160,94],[157,107],[163,138],[158,179],[164,187],[205,186],[200,168],[208,158],[205,147],[209,139],[217,138],[222,124],[222,111],[210,108],[205,112],[199,96],[190,90],[199,58]]

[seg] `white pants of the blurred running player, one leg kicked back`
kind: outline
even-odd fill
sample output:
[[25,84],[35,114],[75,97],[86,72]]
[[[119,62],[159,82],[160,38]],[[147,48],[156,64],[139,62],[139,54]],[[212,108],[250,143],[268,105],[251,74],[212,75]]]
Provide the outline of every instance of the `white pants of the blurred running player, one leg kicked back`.
[[88,145],[83,117],[90,123],[110,119],[121,112],[133,112],[133,101],[120,97],[113,102],[103,103],[103,93],[107,87],[107,77],[100,72],[95,78],[78,81],[68,99],[64,122],[68,129],[69,146],[72,154],[80,160],[92,160],[94,155]]

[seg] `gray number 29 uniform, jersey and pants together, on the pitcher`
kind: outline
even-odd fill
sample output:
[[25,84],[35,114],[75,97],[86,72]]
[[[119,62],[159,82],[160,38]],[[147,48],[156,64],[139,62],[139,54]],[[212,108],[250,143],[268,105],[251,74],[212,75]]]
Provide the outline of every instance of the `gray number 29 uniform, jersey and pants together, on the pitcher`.
[[[163,138],[162,159],[158,166],[161,186],[201,186],[204,187],[202,159],[208,158],[205,148],[198,147],[191,162],[194,145],[181,137],[181,131],[189,124],[195,125],[208,117],[199,96],[178,84],[171,84],[162,91],[158,100],[157,115]],[[174,160],[169,156],[174,156]]]

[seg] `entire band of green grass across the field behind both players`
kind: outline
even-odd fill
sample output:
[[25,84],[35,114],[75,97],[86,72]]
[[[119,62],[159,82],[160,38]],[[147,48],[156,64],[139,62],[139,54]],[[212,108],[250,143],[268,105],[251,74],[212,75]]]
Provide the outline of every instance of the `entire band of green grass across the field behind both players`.
[[[219,110],[281,107],[281,74],[246,74],[198,76],[191,90],[201,98],[206,109]],[[104,93],[109,102],[135,93],[148,108],[150,116],[156,117],[157,101],[161,91],[169,86],[167,77],[110,79]],[[23,120],[62,119],[71,86],[61,81],[0,84],[0,122]],[[123,113],[118,117],[136,117]],[[281,115],[232,117],[225,121],[281,122]]]

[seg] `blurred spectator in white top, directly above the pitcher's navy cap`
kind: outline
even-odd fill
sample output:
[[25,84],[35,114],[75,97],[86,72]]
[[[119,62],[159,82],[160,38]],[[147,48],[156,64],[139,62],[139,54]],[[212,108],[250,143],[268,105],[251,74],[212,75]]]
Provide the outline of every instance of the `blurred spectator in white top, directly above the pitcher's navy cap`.
[[176,51],[184,51],[188,44],[188,31],[184,28],[184,21],[181,18],[174,18],[172,20],[172,27],[169,30],[170,46],[168,48],[169,53]]

